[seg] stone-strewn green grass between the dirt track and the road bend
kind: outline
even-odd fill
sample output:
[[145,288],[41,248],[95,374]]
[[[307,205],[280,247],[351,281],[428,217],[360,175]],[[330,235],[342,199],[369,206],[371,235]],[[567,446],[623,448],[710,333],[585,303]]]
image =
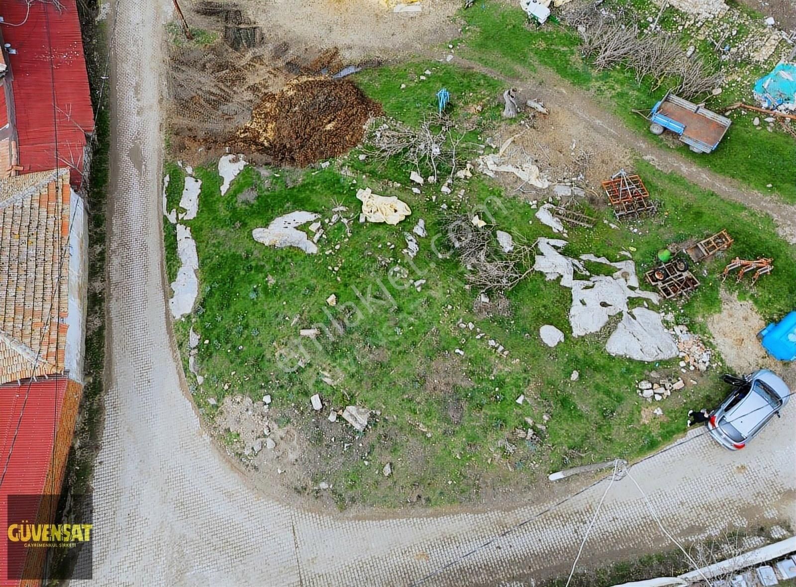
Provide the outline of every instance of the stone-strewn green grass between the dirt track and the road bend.
[[[426,67],[434,68],[434,84],[416,80]],[[407,118],[411,112],[410,122],[416,122],[417,111],[434,107],[439,84],[469,84],[462,87],[473,88],[474,102],[494,95],[493,80],[465,75],[469,77],[439,64],[408,64],[368,72],[361,84],[377,98],[390,96],[384,101],[389,115]],[[400,84],[407,84],[403,93],[395,90]],[[453,115],[464,115],[466,106],[455,104]],[[494,118],[496,108],[484,108],[484,124]],[[732,255],[772,256],[778,263],[756,288],[728,283],[730,289],[751,297],[766,319],[790,309],[788,301],[796,297],[796,251],[775,236],[771,220],[657,172],[643,161],[638,161],[638,170],[661,200],[663,213],[636,224],[638,232],[603,222],[591,231],[570,231],[565,254],[591,252],[618,259],[618,251],[633,247],[641,272],[652,266],[655,252],[666,244],[730,227],[736,238]],[[183,172],[176,165],[166,171],[171,209],[179,200]],[[200,295],[193,316],[176,329],[185,360],[189,325],[202,341],[197,365],[205,382],[191,385],[197,405],[213,420],[218,408],[208,398],[220,405],[224,395],[258,400],[271,394],[279,426],[297,427],[311,450],[325,459],[334,456],[325,462],[319,459],[311,476],[313,484],[325,480],[332,485],[341,507],[396,506],[417,494],[429,505],[456,503],[476,499],[496,485],[528,487],[538,476],[564,466],[638,457],[684,432],[689,408],[715,402],[724,394],[716,383],[718,374],[709,373],[698,385],[656,404],[664,417],[642,424],[642,408],[650,404],[638,398],[634,382],[653,368],[661,376],[680,375],[677,361],[652,365],[608,356],[600,335],[567,336],[556,348],[545,347],[538,337],[541,325],[570,332],[571,296],[557,281],[547,282],[541,275],[532,274],[509,292],[509,316],[474,313],[478,293],[463,286],[462,267],[431,251],[432,237],[442,232],[442,204],[450,210],[486,205],[497,227],[511,232],[516,241],[552,235],[533,218],[536,211],[529,204],[505,195],[482,177],[458,181],[450,196],[430,187],[418,195],[399,186],[408,182],[409,169],[397,161],[359,161],[357,153],[328,169],[261,173],[248,167],[226,196],[220,196],[216,169],[200,168],[195,174],[202,180],[200,211],[185,224],[197,240]],[[412,207],[412,216],[396,227],[359,224],[355,194],[364,187],[399,196]],[[461,199],[456,196],[459,189],[465,190]],[[340,205],[353,217],[351,235],[341,223],[326,227],[318,255],[265,247],[252,239],[253,228],[267,226],[276,216],[306,210],[329,219],[331,208]],[[608,219],[602,207],[587,206],[586,212]],[[408,263],[400,253],[403,233],[420,218],[429,236],[419,239],[419,254]],[[171,227],[166,230],[166,258],[173,279],[178,261]],[[396,277],[396,265],[412,280],[426,279],[422,290]],[[689,323],[696,332],[705,333],[701,320],[720,308],[716,273],[721,266],[720,261],[704,266],[701,289],[681,308],[672,306],[677,321]],[[331,293],[338,297],[334,307],[326,304]],[[476,330],[458,327],[460,321],[472,322],[486,336],[478,340]],[[315,345],[299,339],[298,329],[311,325],[332,332],[334,340],[320,336]],[[498,356],[486,344],[490,339],[508,349],[509,356]],[[297,355],[298,342],[303,350]],[[455,354],[457,348],[465,356]],[[297,356],[304,357],[305,367],[295,368]],[[576,382],[570,380],[573,370],[580,373]],[[324,383],[324,377],[334,380],[334,386]],[[443,383],[432,384],[434,378]],[[326,405],[322,418],[314,418],[310,408],[314,393],[321,394]],[[530,405],[515,402],[521,394]],[[349,404],[380,411],[365,434],[354,435],[339,423],[333,429],[326,426],[329,406],[341,409]],[[549,421],[539,432],[540,441],[514,437],[515,428],[527,427],[524,418],[543,422],[544,414]],[[507,439],[516,446],[511,454],[511,449],[501,448]],[[234,435],[224,440],[236,443]],[[361,447],[346,452],[345,444]],[[389,478],[381,475],[387,462],[393,470]],[[297,490],[309,491],[306,486]]]

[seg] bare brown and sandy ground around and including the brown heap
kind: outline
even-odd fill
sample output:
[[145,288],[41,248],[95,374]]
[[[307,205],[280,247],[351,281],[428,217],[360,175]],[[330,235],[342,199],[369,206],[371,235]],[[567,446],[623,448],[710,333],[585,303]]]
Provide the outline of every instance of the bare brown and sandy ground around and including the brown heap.
[[[186,10],[189,24],[217,38],[202,45],[178,35],[170,47],[172,155],[202,165],[236,146],[246,148],[249,161],[306,165],[345,152],[343,145],[361,139],[363,113],[379,110],[365,106],[349,82],[333,86],[327,77],[325,84],[307,86],[301,78],[367,67],[455,37],[450,17],[458,6],[456,0],[426,0],[420,14],[408,15],[378,0],[197,2]],[[291,80],[298,95],[290,87],[283,91]],[[272,134],[266,122],[275,124]],[[318,132],[320,122],[334,122],[334,132]],[[296,140],[293,148],[289,143]]]

